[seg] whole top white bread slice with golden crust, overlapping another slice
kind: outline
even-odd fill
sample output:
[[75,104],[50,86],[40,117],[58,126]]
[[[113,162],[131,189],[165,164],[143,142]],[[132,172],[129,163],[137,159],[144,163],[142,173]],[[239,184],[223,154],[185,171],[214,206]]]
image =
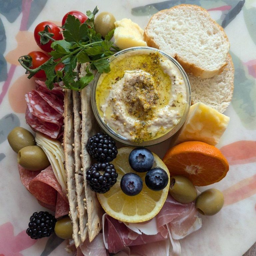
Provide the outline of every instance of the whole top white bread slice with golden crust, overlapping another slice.
[[201,78],[213,77],[227,64],[227,35],[197,5],[181,4],[157,12],[145,28],[144,40],[176,58],[187,73]]

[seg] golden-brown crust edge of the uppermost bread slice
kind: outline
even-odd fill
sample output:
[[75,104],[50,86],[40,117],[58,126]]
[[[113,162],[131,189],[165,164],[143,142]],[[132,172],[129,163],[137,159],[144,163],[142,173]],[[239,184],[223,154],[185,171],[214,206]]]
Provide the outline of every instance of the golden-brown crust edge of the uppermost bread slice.
[[[208,11],[206,9],[202,8],[201,6],[192,5],[192,4],[180,4],[180,5],[174,6],[174,7],[170,8],[170,9],[165,9],[165,10],[161,10],[161,11],[157,12],[156,14],[154,14],[150,18],[150,20],[149,20],[149,22],[148,22],[148,24],[147,24],[147,26],[146,26],[146,28],[144,30],[144,40],[146,41],[148,46],[159,49],[159,45],[147,33],[147,29],[149,29],[151,21],[153,19],[155,19],[156,17],[161,16],[163,13],[168,13],[170,10],[177,9],[177,8],[180,8],[180,7],[192,7],[192,8],[195,8],[195,9],[199,9],[201,11],[205,11],[209,15],[209,13],[208,13]],[[209,17],[210,17],[210,15],[209,15]],[[214,25],[216,25],[223,32],[224,38],[226,39],[226,41],[230,45],[228,37],[227,37],[224,29],[215,20],[211,19],[211,21],[212,21],[212,23]],[[161,50],[164,51],[164,49],[161,49]],[[224,67],[227,65],[227,62],[224,62],[223,65],[219,69],[216,69],[216,70],[205,70],[205,69],[202,69],[202,68],[196,66],[194,63],[189,63],[189,62],[185,61],[182,58],[182,56],[179,56],[178,54],[175,54],[172,57],[175,58],[181,64],[181,66],[184,68],[184,70],[187,73],[192,73],[194,76],[200,76],[203,79],[210,78],[210,77],[213,77],[216,74],[221,73],[222,70],[224,69]]]

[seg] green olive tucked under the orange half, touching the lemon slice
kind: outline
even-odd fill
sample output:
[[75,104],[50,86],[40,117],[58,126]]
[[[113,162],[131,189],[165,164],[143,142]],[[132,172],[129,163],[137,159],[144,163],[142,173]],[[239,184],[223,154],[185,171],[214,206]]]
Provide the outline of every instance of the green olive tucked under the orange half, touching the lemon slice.
[[171,177],[169,192],[175,200],[183,204],[193,202],[197,196],[193,183],[183,176]]

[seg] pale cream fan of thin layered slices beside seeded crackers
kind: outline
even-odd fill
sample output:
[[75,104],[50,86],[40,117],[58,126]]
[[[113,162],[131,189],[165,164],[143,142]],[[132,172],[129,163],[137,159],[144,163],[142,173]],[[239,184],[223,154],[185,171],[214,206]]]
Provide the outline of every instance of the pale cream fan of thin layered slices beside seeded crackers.
[[64,150],[58,140],[52,140],[42,133],[36,133],[36,144],[42,148],[51,163],[53,173],[61,185],[64,193],[67,189],[67,176],[63,162],[65,161]]

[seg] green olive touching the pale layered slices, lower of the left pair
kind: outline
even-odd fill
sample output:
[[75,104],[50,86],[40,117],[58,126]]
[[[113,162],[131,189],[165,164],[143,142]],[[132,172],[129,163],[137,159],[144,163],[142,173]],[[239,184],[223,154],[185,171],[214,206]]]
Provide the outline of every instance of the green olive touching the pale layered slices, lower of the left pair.
[[18,152],[18,164],[30,171],[41,171],[50,165],[44,151],[38,146],[27,146]]

